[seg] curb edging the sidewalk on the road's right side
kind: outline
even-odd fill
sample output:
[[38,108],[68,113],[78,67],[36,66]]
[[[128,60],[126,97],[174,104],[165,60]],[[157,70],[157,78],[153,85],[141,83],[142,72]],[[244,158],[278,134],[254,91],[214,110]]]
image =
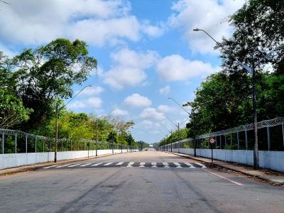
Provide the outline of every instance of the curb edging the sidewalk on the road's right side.
[[[171,152],[166,152],[166,153],[171,153]],[[198,160],[198,161],[200,161],[200,162],[202,162],[202,163],[208,163],[207,161],[204,161],[204,160],[202,160],[202,159],[197,159],[197,158],[195,158],[195,157],[192,158],[190,155],[185,155],[185,154],[180,154],[180,153],[172,153],[172,154],[174,154],[174,155],[179,155],[179,156],[182,156],[182,157],[184,157],[184,158],[190,158],[190,159],[193,159],[193,160]],[[227,167],[227,166],[224,166],[224,165],[219,165],[219,164],[214,163],[214,162],[213,162],[213,165],[219,166],[219,167],[221,167],[221,168],[226,168],[226,169],[229,169],[229,170],[233,170],[234,172],[241,173],[241,174],[243,174],[243,175],[247,175],[247,176],[249,176],[249,177],[251,177],[251,178],[258,178],[259,180],[265,180],[265,181],[267,181],[267,182],[270,182],[270,183],[273,184],[273,185],[281,185],[281,186],[284,185],[284,182],[276,182],[276,181],[274,181],[274,180],[271,180],[271,179],[262,177],[261,175],[252,175],[252,174],[250,174],[250,173],[245,173],[245,172],[242,171],[242,170],[230,168],[230,167]]]

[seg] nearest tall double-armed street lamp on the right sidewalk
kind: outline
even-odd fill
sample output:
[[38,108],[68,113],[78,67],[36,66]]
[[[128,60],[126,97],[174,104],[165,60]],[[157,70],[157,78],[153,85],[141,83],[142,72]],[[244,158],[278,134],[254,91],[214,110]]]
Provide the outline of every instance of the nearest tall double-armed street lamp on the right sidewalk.
[[[257,129],[257,112],[256,112],[256,66],[260,64],[260,62],[264,59],[267,58],[269,55],[271,55],[271,53],[273,53],[274,50],[271,51],[271,53],[268,53],[265,57],[261,58],[260,60],[258,60],[258,62],[254,62],[254,58],[252,58],[252,67],[249,67],[247,65],[244,65],[242,62],[239,62],[239,60],[237,60],[233,55],[231,55],[231,53],[229,53],[228,50],[226,50],[224,48],[223,45],[221,45],[221,43],[217,42],[217,40],[215,40],[211,35],[209,35],[209,33],[207,33],[206,31],[196,28],[193,29],[193,31],[203,31],[204,33],[206,33],[210,38],[212,38],[212,40],[214,40],[214,42],[217,43],[217,45],[222,48],[226,53],[228,53],[228,55],[231,56],[231,58],[234,58],[236,60],[236,62],[239,63],[239,65],[241,65],[242,67],[244,67],[244,69],[246,71],[248,71],[249,73],[251,73],[252,75],[252,93],[253,93],[253,97],[252,97],[252,101],[253,101],[253,132],[254,132],[254,147],[253,147],[253,168],[255,170],[259,169],[259,158],[258,158],[258,129]],[[275,50],[279,50],[282,48],[276,48]]]

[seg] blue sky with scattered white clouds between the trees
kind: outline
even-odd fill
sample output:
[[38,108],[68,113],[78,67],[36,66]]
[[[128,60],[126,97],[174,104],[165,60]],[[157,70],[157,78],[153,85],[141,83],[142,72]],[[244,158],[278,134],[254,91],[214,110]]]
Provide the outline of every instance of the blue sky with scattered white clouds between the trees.
[[[191,102],[202,80],[219,70],[217,40],[232,29],[226,18],[244,0],[7,0],[0,11],[0,50],[13,56],[55,38],[87,42],[97,73],[75,85],[88,87],[68,109],[133,120],[136,141],[160,141],[188,115],[178,103]],[[66,100],[67,102],[67,100]],[[190,111],[190,108],[187,108]],[[163,116],[163,114],[165,116]],[[184,122],[181,126],[185,126]]]

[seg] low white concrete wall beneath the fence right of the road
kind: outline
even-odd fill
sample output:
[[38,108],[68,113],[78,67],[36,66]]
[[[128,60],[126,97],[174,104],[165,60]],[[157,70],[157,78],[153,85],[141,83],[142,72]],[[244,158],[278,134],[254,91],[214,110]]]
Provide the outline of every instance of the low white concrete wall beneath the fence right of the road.
[[[170,150],[169,150],[170,151]],[[173,148],[173,152],[178,153],[178,148]],[[180,153],[194,155],[193,148],[180,148]],[[211,149],[196,149],[196,155],[211,158]],[[284,172],[284,152],[283,151],[258,151],[259,166]],[[226,162],[253,165],[253,151],[249,150],[224,150],[213,149],[213,158]]]

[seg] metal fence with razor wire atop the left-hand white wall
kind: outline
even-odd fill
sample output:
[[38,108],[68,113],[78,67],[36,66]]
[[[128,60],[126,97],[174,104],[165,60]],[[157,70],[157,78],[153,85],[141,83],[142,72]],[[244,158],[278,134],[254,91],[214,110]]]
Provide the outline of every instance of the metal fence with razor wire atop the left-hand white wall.
[[[6,153],[44,153],[55,151],[55,139],[45,136],[36,136],[18,130],[0,129],[0,154]],[[106,149],[136,150],[134,146],[126,146],[107,141],[96,141],[78,138],[61,138],[57,143],[58,151],[87,151]]]

